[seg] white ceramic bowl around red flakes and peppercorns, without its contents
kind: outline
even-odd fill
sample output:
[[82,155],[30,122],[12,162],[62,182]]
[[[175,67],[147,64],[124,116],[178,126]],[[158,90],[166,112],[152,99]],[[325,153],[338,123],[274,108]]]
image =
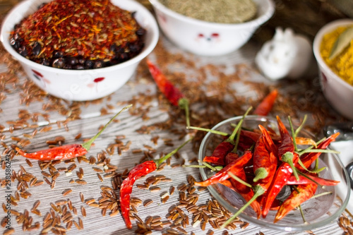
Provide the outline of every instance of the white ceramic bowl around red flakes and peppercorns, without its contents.
[[20,20],[36,11],[37,6],[48,0],[27,0],[18,4],[4,19],[1,42],[5,49],[22,65],[25,73],[40,88],[64,100],[96,100],[121,88],[136,71],[139,62],[155,48],[159,38],[158,25],[147,8],[136,1],[112,0],[112,4],[127,11],[136,11],[135,18],[147,30],[145,47],[138,56],[121,64],[90,70],[66,70],[37,64],[16,52],[9,43],[9,33]]

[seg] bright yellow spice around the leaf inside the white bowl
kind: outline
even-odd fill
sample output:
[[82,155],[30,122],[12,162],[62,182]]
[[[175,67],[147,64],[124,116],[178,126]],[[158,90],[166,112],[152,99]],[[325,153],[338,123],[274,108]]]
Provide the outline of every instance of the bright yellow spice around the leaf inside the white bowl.
[[321,42],[320,53],[325,63],[338,75],[350,85],[353,85],[353,40],[341,54],[335,59],[329,59],[333,44],[337,37],[345,31],[347,27],[339,27],[333,32],[323,36]]

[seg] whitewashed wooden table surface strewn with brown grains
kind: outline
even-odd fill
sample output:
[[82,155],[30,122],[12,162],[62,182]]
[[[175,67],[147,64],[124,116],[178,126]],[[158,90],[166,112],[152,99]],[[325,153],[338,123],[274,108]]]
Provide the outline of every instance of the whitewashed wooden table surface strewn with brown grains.
[[[259,47],[258,44],[249,42],[237,52],[226,56],[203,57],[178,49],[161,35],[160,42],[149,58],[157,65],[161,65],[158,61],[164,59],[166,63],[163,64],[162,70],[166,73],[169,71],[169,74],[174,73],[174,76],[175,74],[181,76],[182,84],[178,80],[173,81],[182,88],[185,88],[188,82],[193,84],[195,80],[202,80],[200,90],[186,92],[193,100],[198,96],[198,92],[205,89],[203,95],[208,98],[207,102],[205,99],[204,101],[199,99],[192,103],[191,124],[194,125],[203,123],[203,126],[212,127],[215,124],[213,121],[217,119],[220,121],[241,115],[249,105],[257,104],[263,95],[273,88],[280,90],[280,96],[271,113],[272,116],[293,114],[295,110],[292,109],[297,109],[298,102],[301,102],[304,109],[294,114],[298,120],[303,114],[309,114],[311,126],[309,125],[308,128],[317,135],[321,135],[321,127],[326,123],[345,121],[325,101],[316,73],[299,81],[273,82],[261,76],[253,65],[253,58]],[[163,55],[163,53],[168,54]],[[141,62],[133,78],[109,97],[95,102],[65,102],[40,93],[40,90],[36,90],[35,85],[25,78],[19,65],[16,61],[12,61],[4,49],[1,49],[0,55],[0,138],[3,144],[0,146],[0,152],[1,162],[4,162],[0,169],[2,186],[0,203],[6,205],[6,195],[8,193],[12,195],[11,228],[14,229],[14,234],[41,234],[50,223],[54,227],[52,230],[50,230],[52,227],[47,229],[48,234],[56,234],[60,231],[63,234],[136,234],[139,229],[136,225],[138,219],[133,220],[133,229],[126,229],[121,214],[115,215],[111,210],[102,210],[104,201],[112,202],[111,205],[114,204],[119,198],[119,187],[116,185],[124,179],[126,171],[143,157],[146,157],[145,159],[157,158],[166,154],[192,134],[187,134],[185,131],[183,113],[177,108],[170,107],[157,91],[145,61]],[[202,76],[200,68],[203,68]],[[236,73],[234,70],[240,70],[241,73]],[[233,74],[239,77],[232,78]],[[213,83],[222,85],[222,79],[231,81],[224,88],[228,90],[227,95],[217,93],[220,89],[208,90]],[[227,104],[233,104],[234,100],[239,100],[243,105],[231,110],[232,107]],[[22,146],[24,150],[34,152],[48,147],[47,140],[54,141],[59,138],[64,140],[64,144],[81,143],[95,135],[99,128],[126,104],[133,104],[133,107],[118,116],[118,121],[112,123],[100,135],[100,138],[97,138],[85,159],[52,162],[44,167],[43,162],[26,161],[19,155],[13,156],[13,145]],[[208,115],[206,111],[209,111],[210,106],[220,109],[217,112],[219,115],[217,119],[203,116]],[[327,115],[323,117],[318,114],[318,110]],[[170,218],[168,219],[169,212],[175,205],[179,205],[184,184],[189,186],[188,179],[191,176],[200,180],[198,169],[181,167],[182,164],[197,164],[191,161],[197,157],[198,144],[196,142],[194,145],[186,145],[179,151],[179,155],[172,157],[164,169],[136,182],[136,185],[142,185],[150,176],[165,176],[168,179],[148,189],[134,186],[132,194],[136,203],[134,214],[138,215],[143,222],[149,217],[154,219],[160,217],[161,221],[166,224],[173,222]],[[6,155],[13,156],[13,159],[6,160]],[[11,172],[15,172],[18,176],[18,179],[13,179],[10,188],[6,188],[4,183],[6,177],[4,164],[6,163],[11,165]],[[80,173],[84,175],[81,176]],[[81,181],[79,181],[80,178]],[[151,191],[152,187],[159,187],[160,190]],[[171,194],[173,187],[175,190]],[[207,190],[199,191],[198,189],[196,188],[194,192],[198,194],[196,205],[202,207],[202,205],[207,205],[211,196]],[[112,198],[102,200],[103,197],[107,197],[104,192]],[[184,193],[188,195],[187,191]],[[114,194],[118,196],[115,197]],[[165,195],[169,195],[169,200],[162,203]],[[144,206],[144,203],[150,200],[152,203]],[[37,205],[38,202],[40,202],[39,205]],[[35,205],[37,205],[36,210],[33,210]],[[99,205],[101,208],[98,207]],[[116,207],[119,208],[117,204]],[[69,219],[67,219],[68,212],[72,216]],[[189,225],[181,227],[187,234],[212,234],[213,232],[214,234],[226,234],[226,231],[229,234],[285,234],[284,231],[257,227],[255,224],[246,222],[239,222],[234,230],[218,230],[211,227],[210,223],[206,223],[203,230],[202,223],[193,226],[194,217],[191,213],[185,209],[183,212],[185,217],[189,217]],[[3,219],[5,216],[6,212],[1,209],[2,225],[6,225]],[[52,221],[48,222],[48,216],[52,218]],[[21,220],[21,217],[25,219]],[[352,221],[352,216],[347,212],[344,212],[342,217],[347,217]],[[66,229],[66,226],[70,224],[68,221],[72,221],[71,229]],[[80,222],[82,227],[80,227]],[[77,227],[75,223],[78,224]],[[339,218],[337,218],[324,227],[302,231],[298,234],[345,234],[345,230],[339,224]],[[349,226],[352,231],[352,225],[347,225]],[[177,231],[177,234],[184,232],[166,225],[162,231],[153,230],[152,234],[167,234],[168,232],[172,234],[172,231],[168,229]],[[0,230],[5,232],[6,228],[1,226]]]

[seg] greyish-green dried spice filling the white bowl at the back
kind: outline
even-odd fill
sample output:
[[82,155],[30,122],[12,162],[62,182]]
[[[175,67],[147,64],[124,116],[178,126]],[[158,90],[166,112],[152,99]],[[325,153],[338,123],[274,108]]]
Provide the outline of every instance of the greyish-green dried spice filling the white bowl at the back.
[[252,0],[159,0],[184,16],[213,23],[242,23],[256,16]]

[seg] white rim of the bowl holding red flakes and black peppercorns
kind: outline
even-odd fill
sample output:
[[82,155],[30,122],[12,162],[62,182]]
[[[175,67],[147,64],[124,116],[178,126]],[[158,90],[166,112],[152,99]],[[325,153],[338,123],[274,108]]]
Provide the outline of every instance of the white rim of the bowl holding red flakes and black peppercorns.
[[[126,68],[128,66],[131,66],[132,64],[136,64],[139,61],[141,61],[143,58],[148,56],[148,54],[150,54],[150,52],[152,52],[152,50],[155,48],[155,45],[157,44],[157,42],[159,40],[159,29],[158,29],[157,21],[152,16],[152,13],[150,13],[150,11],[148,11],[142,4],[138,3],[137,1],[124,0],[124,1],[120,1],[120,2],[123,4],[124,4],[124,2],[128,2],[128,4],[135,6],[136,8],[138,8],[138,11],[142,11],[143,15],[149,18],[148,26],[152,31],[152,40],[151,40],[150,44],[145,45],[145,47],[143,48],[143,51],[140,52],[140,54],[129,59],[128,61],[124,61],[121,64],[116,64],[113,66],[107,66],[107,67],[103,67],[103,68],[75,70],[75,69],[63,69],[63,68],[54,68],[51,66],[44,66],[42,64],[38,64],[34,61],[31,61],[30,59],[27,59],[27,58],[21,56],[20,54],[18,54],[18,52],[16,52],[16,50],[13,49],[13,47],[11,47],[10,42],[8,40],[9,32],[7,32],[4,27],[4,25],[6,25],[6,23],[8,23],[8,20],[11,18],[12,14],[15,13],[17,11],[17,9],[20,8],[20,6],[23,6],[25,4],[29,4],[31,1],[33,1],[33,0],[22,1],[22,2],[20,2],[20,4],[17,4],[15,7],[13,7],[11,9],[11,11],[8,12],[8,14],[4,18],[3,23],[1,25],[0,41],[4,45],[6,51],[8,53],[10,53],[13,57],[15,57],[15,59],[17,59],[18,61],[20,61],[23,64],[28,64],[28,66],[32,66],[32,67],[39,66],[43,71],[48,71],[48,72],[52,72],[52,73],[61,73],[61,74],[73,74],[73,73],[79,74],[79,73],[82,73],[83,71],[97,71],[97,72],[116,71],[121,68]],[[35,2],[33,1],[32,4],[34,4],[34,3]],[[121,8],[124,8],[124,7],[121,7]]]

